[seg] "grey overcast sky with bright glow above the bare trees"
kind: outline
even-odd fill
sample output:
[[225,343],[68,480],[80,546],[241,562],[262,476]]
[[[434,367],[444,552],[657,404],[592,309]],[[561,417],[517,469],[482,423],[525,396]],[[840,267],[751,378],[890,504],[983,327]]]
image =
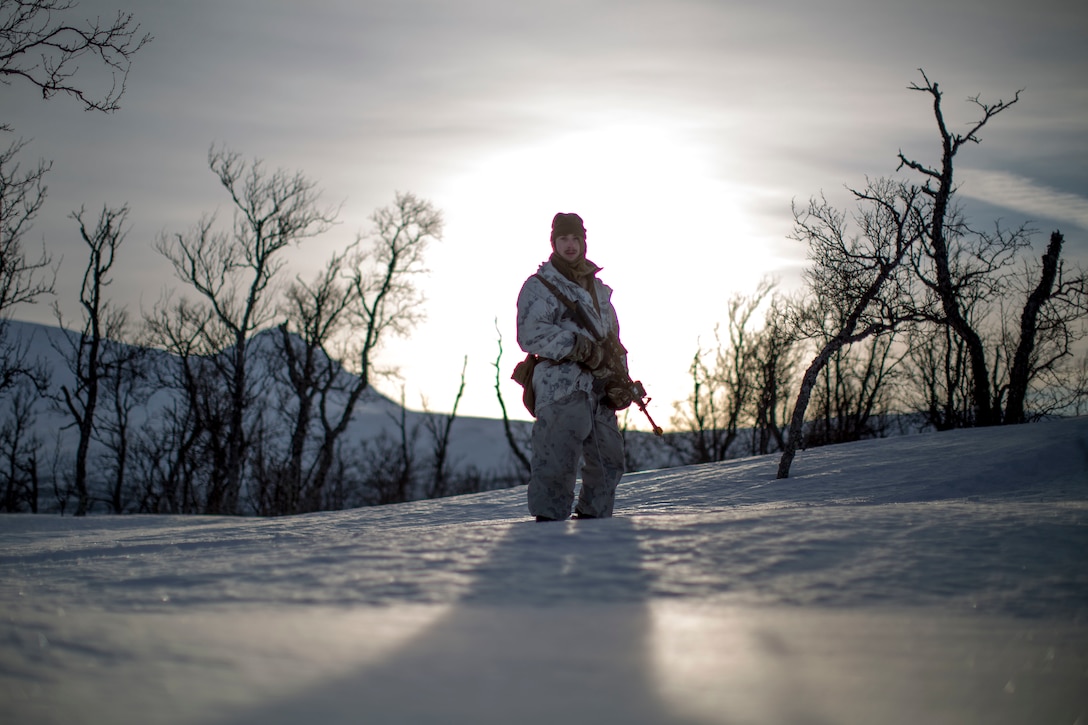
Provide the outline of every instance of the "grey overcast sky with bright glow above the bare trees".
[[[138,317],[183,287],[153,250],[228,199],[212,144],[301,171],[343,204],[341,223],[294,251],[309,278],[369,229],[394,194],[443,210],[429,255],[428,322],[391,344],[406,402],[498,417],[521,355],[515,302],[548,253],[556,211],[585,219],[589,257],[616,288],[632,374],[666,422],[687,395],[696,346],[733,294],[761,277],[789,286],[804,250],[787,238],[791,202],[895,173],[897,153],[936,163],[918,69],[944,91],[1021,100],[957,160],[977,222],[1061,229],[1088,257],[1088,13],[1065,0],[81,0],[81,16],[131,11],[153,42],[135,58],[122,109],[0,86],[0,121],[51,160],[32,238],[61,260],[58,302],[76,319],[85,247],[67,216],[127,204],[112,298]],[[94,79],[86,70],[87,82]],[[48,305],[17,318],[53,322]],[[380,388],[394,397],[397,383]],[[511,413],[518,389],[505,382]]]

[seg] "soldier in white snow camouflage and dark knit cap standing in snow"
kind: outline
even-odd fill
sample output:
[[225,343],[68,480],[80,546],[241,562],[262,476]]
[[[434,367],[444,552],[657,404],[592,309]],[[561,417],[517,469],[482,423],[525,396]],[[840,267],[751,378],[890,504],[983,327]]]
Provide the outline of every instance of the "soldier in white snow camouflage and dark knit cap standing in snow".
[[[574,213],[552,220],[552,256],[518,295],[518,344],[537,356],[532,371],[536,422],[532,433],[529,513],[539,521],[613,514],[623,475],[623,438],[616,410],[632,402],[619,345],[611,287],[585,258],[585,226]],[[619,369],[622,368],[622,369]]]

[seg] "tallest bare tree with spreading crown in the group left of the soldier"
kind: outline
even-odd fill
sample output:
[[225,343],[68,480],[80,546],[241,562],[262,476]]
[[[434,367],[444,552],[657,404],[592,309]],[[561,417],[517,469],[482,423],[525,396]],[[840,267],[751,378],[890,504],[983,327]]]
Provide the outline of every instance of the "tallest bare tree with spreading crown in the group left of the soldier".
[[247,164],[240,155],[214,147],[208,164],[234,205],[232,231],[217,232],[214,218],[205,217],[190,233],[161,237],[157,246],[209,311],[199,332],[214,354],[228,417],[222,438],[209,439],[222,446],[223,465],[209,481],[206,509],[238,513],[254,395],[250,337],[273,320],[271,285],[283,267],[282,253],[326,231],[336,212],[318,206],[320,193],[301,173],[267,172],[259,160]]

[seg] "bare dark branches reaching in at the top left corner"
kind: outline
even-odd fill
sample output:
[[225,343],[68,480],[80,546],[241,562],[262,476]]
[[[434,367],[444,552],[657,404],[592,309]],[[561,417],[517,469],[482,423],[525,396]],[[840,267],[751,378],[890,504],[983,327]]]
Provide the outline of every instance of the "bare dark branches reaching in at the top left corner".
[[[140,34],[132,13],[119,11],[109,23],[75,20],[77,4],[74,0],[0,0],[0,83],[25,81],[42,98],[64,94],[76,98],[85,110],[115,111],[133,56],[152,38]],[[76,84],[75,75],[87,58],[97,61],[109,77],[100,90],[88,90],[91,79],[87,77]]]

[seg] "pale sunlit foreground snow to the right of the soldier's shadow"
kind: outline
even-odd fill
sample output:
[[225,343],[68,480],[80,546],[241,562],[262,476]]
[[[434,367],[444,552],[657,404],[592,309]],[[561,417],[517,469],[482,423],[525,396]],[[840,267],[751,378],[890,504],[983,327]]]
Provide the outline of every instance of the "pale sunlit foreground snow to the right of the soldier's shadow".
[[1081,628],[932,607],[650,611],[658,692],[698,723],[1076,722],[1083,710],[1070,698]]

